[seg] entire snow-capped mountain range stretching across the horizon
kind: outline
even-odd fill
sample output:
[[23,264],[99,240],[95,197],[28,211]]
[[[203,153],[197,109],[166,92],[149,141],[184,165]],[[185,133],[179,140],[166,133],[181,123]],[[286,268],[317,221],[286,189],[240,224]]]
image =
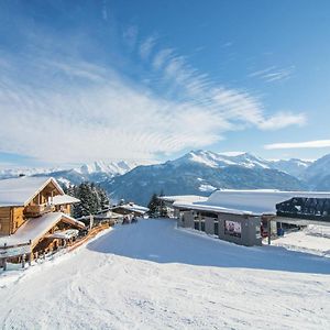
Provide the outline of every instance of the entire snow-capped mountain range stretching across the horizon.
[[95,182],[113,200],[123,198],[146,205],[153,193],[161,191],[208,196],[219,188],[330,190],[330,154],[315,162],[268,161],[250,153],[228,155],[199,150],[156,165],[99,161],[72,169],[0,170],[0,179],[20,173],[53,176],[63,185]]

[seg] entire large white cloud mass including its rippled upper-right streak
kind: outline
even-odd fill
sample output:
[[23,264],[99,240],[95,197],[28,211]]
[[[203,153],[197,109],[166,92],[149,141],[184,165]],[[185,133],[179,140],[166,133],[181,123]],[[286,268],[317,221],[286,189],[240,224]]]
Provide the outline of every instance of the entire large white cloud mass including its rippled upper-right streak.
[[[0,152],[55,164],[152,160],[206,147],[245,127],[275,130],[305,120],[292,112],[267,117],[260,97],[213,81],[155,36],[141,41],[135,25],[121,37],[150,66],[148,86],[75,52],[2,56]],[[161,91],[155,92],[155,81],[164,84]]]

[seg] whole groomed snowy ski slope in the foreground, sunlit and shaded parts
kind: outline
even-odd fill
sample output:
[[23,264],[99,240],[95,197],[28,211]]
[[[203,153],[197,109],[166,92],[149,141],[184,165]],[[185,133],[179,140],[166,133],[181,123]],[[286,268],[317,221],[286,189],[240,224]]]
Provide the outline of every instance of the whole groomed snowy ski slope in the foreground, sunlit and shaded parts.
[[2,329],[330,329],[330,260],[141,220],[0,275],[0,301]]

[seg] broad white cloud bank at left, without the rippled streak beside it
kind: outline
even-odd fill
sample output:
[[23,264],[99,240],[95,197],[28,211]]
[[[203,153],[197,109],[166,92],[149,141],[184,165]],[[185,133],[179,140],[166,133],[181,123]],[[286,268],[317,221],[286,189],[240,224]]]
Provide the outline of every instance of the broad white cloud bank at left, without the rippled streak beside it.
[[[151,160],[157,153],[211,144],[229,128],[221,116],[152,96],[106,68],[77,61],[50,62],[47,69],[51,65],[75,82],[64,90],[59,79],[37,90],[0,79],[1,119],[7,123],[0,151],[52,163]],[[85,87],[78,84],[81,78]]]

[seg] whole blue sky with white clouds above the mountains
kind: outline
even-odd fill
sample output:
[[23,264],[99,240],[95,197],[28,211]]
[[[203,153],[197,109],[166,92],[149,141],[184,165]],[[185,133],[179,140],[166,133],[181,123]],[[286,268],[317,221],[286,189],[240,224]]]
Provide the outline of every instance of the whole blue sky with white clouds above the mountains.
[[330,153],[329,1],[1,1],[0,166]]

